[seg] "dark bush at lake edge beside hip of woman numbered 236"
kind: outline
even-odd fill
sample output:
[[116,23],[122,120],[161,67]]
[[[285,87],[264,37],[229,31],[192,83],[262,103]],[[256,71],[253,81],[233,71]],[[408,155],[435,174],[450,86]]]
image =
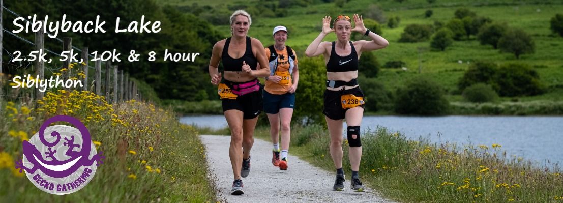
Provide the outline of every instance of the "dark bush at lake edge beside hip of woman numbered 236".
[[360,81],[361,89],[364,90],[365,94],[364,100],[366,111],[392,111],[392,92],[386,90],[382,82],[370,78],[360,78]]

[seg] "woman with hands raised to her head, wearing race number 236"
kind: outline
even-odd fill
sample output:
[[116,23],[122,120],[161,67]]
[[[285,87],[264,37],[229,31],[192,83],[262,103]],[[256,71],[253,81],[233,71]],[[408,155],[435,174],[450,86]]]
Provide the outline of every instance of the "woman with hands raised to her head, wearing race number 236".
[[[348,156],[352,165],[350,188],[361,192],[364,187],[360,181],[358,171],[361,160],[360,123],[364,114],[364,93],[358,85],[358,64],[361,53],[385,48],[388,42],[385,38],[371,32],[364,26],[364,21],[358,14],[354,15],[355,27],[346,15],[340,15],[334,20],[330,29],[330,16],[323,19],[323,31],[307,47],[305,55],[315,57],[324,56],[327,64],[327,90],[324,92],[325,120],[330,133],[330,156],[336,168],[334,190],[344,189],[344,171],[342,170],[342,119],[346,118],[347,140],[350,145]],[[350,41],[352,31],[359,32],[371,38],[371,41]],[[321,42],[327,34],[334,32],[337,40]]]

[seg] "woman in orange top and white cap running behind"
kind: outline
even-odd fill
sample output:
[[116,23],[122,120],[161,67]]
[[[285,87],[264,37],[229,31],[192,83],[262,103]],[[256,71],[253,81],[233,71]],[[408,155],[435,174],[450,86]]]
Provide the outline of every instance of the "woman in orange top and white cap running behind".
[[[295,104],[295,90],[299,82],[297,71],[297,55],[289,46],[287,28],[278,26],[272,32],[274,45],[265,48],[266,56],[270,61],[270,76],[266,77],[264,87],[264,112],[270,121],[270,137],[272,149],[272,164],[279,166],[280,170],[287,170],[287,155],[289,153],[289,139],[291,117]],[[280,155],[279,131],[282,123],[282,151]]]

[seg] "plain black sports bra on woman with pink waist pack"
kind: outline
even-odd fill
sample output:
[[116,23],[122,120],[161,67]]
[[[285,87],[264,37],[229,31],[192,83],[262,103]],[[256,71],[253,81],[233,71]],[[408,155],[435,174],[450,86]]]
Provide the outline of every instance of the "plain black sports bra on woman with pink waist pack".
[[229,43],[231,42],[231,37],[227,38],[225,41],[225,46],[223,47],[223,53],[221,55],[221,61],[225,71],[242,71],[243,61],[250,66],[252,70],[256,70],[256,65],[258,65],[258,60],[252,54],[252,44],[250,37],[247,37],[247,47],[244,55],[241,58],[233,59],[229,56]]

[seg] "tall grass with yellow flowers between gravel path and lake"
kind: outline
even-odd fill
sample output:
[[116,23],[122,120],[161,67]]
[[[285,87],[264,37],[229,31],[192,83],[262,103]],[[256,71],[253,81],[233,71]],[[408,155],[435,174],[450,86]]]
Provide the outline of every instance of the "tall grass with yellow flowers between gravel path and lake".
[[[257,136],[269,140],[266,127]],[[294,126],[290,152],[334,171],[329,135],[320,125]],[[431,144],[382,127],[362,135],[360,176],[368,187],[403,202],[561,202],[563,177],[552,165],[539,168],[507,157],[501,144]],[[343,168],[350,173],[347,143]],[[291,160],[290,160],[291,161]],[[291,162],[289,163],[291,166]],[[290,167],[291,169],[291,167]],[[330,188],[330,186],[327,186]]]

